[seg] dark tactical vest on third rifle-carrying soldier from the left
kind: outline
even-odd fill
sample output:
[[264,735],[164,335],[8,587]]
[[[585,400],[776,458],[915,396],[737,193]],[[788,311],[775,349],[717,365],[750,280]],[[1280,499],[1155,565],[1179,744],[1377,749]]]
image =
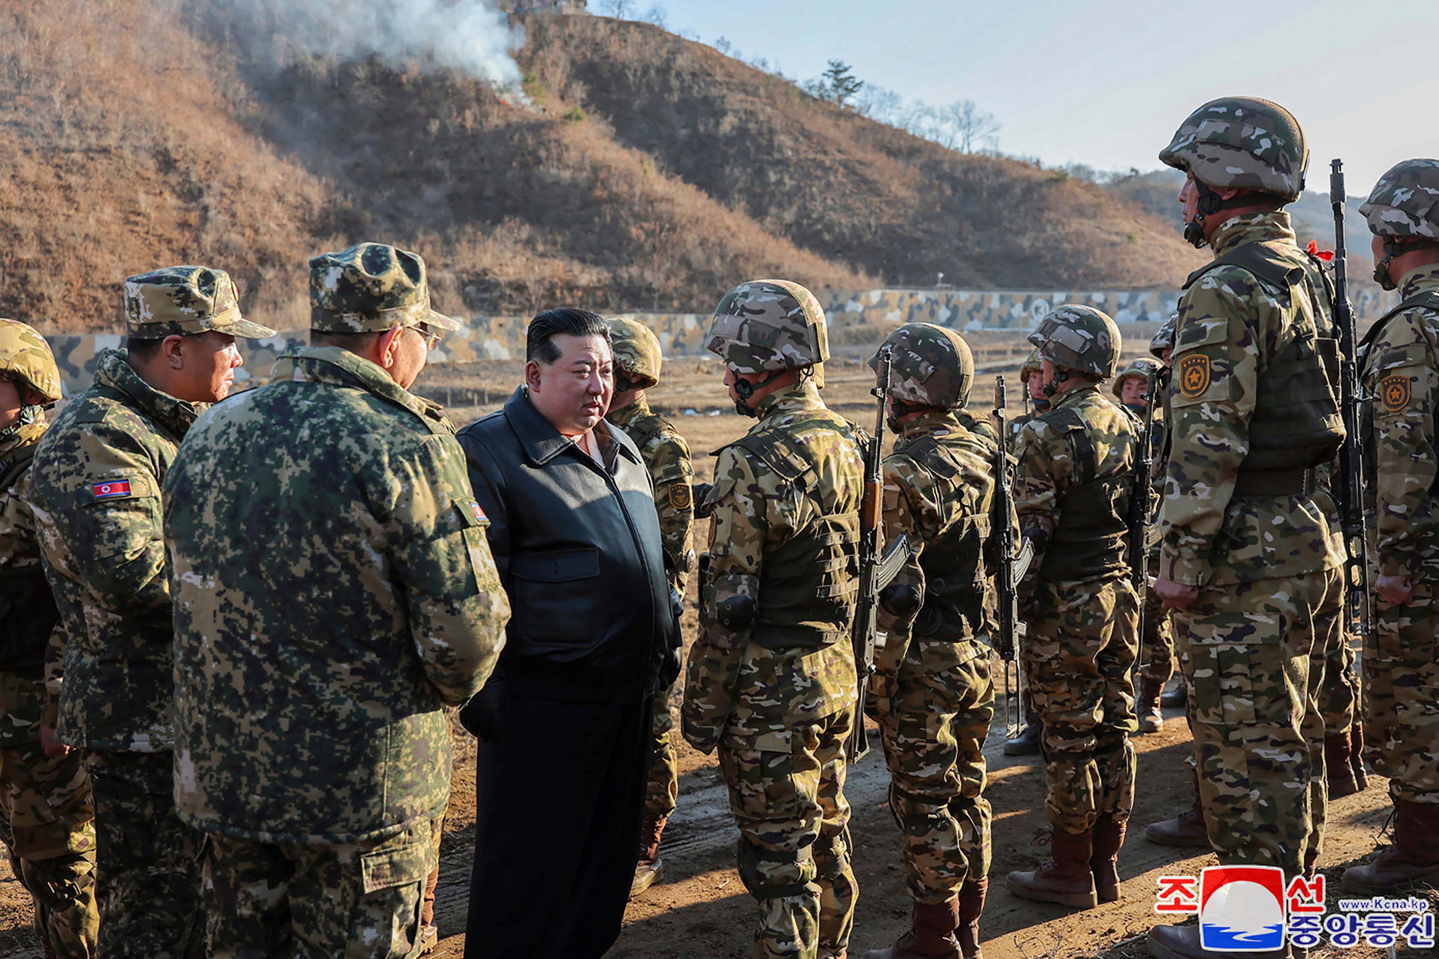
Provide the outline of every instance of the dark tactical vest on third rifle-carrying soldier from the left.
[[1059,496],[1059,525],[1045,548],[1039,575],[1053,582],[1127,569],[1131,470],[1095,476],[1099,466],[1089,424],[1076,408],[1062,407],[1043,418],[1069,441],[1075,482]]

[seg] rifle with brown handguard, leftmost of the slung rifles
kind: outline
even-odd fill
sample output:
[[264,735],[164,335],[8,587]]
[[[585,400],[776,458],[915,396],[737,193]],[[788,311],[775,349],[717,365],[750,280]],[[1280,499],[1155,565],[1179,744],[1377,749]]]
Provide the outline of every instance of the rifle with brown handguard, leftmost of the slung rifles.
[[[879,519],[881,485],[884,483],[885,446],[885,401],[889,397],[889,371],[894,365],[894,349],[879,348],[878,378],[869,394],[879,400],[875,416],[875,431],[865,449],[865,499],[859,508],[859,604],[855,608],[855,627],[850,641],[855,647],[855,676],[859,694],[855,699],[855,728],[845,742],[845,759],[856,762],[869,752],[869,735],[865,732],[865,694],[869,676],[875,671],[875,631],[879,614]],[[902,562],[899,564],[902,565]],[[898,571],[898,566],[896,566]],[[891,574],[891,578],[892,574]]]

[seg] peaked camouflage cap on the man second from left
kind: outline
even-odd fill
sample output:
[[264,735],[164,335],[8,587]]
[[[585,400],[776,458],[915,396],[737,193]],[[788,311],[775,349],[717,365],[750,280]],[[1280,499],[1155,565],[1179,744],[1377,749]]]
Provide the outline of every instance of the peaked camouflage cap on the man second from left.
[[167,266],[125,280],[125,326],[135,339],[194,336],[214,331],[265,339],[275,331],[240,315],[240,295],[224,270]]

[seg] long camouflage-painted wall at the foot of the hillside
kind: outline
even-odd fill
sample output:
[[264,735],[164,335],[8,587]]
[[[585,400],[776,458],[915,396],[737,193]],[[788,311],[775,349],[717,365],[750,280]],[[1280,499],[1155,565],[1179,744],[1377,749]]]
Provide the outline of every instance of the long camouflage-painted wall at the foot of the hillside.
[[[1109,313],[1125,324],[1163,322],[1179,305],[1179,292],[1105,290],[1105,292],[984,292],[984,290],[905,290],[875,289],[833,292],[819,296],[832,326],[895,326],[909,322],[940,324],[955,329],[1029,329],[1040,316],[1061,303],[1084,303]],[[1357,290],[1354,313],[1376,319],[1397,303],[1396,293],[1376,296]],[[659,336],[666,357],[694,357],[702,352],[708,313],[625,313],[646,324]],[[430,362],[463,364],[481,359],[517,359],[525,352],[525,325],[518,316],[472,316],[469,328],[450,334]],[[307,342],[304,331],[281,334],[245,344],[245,367],[239,380],[266,375],[288,344]],[[60,364],[65,393],[71,395],[89,385],[95,374],[95,355],[106,347],[119,347],[118,335],[49,336]],[[875,336],[876,342],[879,335]]]

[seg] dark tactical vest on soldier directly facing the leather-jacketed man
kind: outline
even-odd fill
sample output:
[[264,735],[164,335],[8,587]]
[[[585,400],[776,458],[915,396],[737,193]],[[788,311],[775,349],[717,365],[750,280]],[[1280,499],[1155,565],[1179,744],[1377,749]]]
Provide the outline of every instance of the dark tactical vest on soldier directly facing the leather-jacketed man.
[[[835,430],[858,446],[846,426]],[[814,499],[819,473],[806,450],[778,433],[735,440],[790,483]],[[760,610],[751,638],[770,650],[820,650],[849,641],[859,597],[859,503],[845,513],[816,518],[789,542],[764,556]]]

